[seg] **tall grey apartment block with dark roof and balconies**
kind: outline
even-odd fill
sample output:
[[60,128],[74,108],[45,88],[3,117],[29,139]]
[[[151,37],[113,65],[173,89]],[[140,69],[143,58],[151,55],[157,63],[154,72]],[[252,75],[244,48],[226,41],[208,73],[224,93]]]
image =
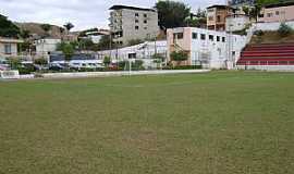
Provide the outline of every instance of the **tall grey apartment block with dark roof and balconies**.
[[113,41],[127,45],[134,39],[155,39],[159,34],[158,13],[155,9],[126,5],[110,8],[110,32]]

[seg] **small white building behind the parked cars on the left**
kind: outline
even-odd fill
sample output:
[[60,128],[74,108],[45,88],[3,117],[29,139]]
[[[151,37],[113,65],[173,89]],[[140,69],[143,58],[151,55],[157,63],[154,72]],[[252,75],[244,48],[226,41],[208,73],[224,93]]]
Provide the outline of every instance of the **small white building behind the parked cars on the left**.
[[36,40],[35,46],[36,46],[37,58],[48,59],[49,53],[54,52],[57,50],[58,44],[60,42],[61,42],[61,39],[53,39],[53,38]]

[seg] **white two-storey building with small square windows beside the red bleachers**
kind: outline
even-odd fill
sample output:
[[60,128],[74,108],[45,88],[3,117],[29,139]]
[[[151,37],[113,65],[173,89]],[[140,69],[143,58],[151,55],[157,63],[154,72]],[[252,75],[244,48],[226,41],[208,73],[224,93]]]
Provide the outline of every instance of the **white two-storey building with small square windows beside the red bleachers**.
[[225,32],[180,27],[168,29],[168,61],[173,51],[184,51],[188,60],[183,65],[207,69],[233,69],[246,45],[246,37]]

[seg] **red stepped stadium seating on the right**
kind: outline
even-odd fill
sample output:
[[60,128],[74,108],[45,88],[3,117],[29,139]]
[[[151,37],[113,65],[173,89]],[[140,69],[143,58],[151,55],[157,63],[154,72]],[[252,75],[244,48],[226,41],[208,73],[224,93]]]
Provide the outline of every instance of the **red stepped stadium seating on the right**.
[[248,45],[237,65],[294,65],[294,42]]

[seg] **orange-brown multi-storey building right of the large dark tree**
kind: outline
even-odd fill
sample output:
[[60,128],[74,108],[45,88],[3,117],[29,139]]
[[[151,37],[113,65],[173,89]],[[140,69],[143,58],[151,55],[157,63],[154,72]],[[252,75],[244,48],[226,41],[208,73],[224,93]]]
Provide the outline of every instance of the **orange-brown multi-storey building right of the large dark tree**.
[[232,13],[228,5],[212,5],[207,8],[207,28],[225,30],[225,17]]

